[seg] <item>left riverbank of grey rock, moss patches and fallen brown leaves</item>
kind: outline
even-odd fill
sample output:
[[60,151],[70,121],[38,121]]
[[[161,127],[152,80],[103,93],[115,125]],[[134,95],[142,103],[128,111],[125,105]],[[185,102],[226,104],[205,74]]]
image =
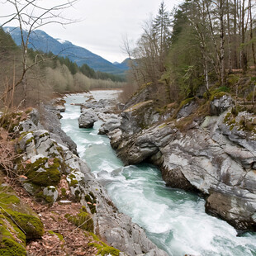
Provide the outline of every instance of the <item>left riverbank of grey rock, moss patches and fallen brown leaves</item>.
[[[20,114],[12,114],[9,118],[13,116]],[[27,111],[15,123],[6,119],[6,128],[12,128],[17,137],[17,187],[23,187],[17,191],[23,195],[17,200],[27,201],[33,206],[40,225],[45,229],[40,230],[40,235],[33,237],[33,241],[23,242],[22,254],[12,255],[25,255],[26,249],[32,255],[166,255],[147,239],[145,231],[133,224],[130,217],[117,211],[88,165],[73,154],[76,145],[61,130],[58,117],[58,107],[56,110],[55,107],[41,106],[40,113]],[[11,186],[2,183],[2,187],[7,184]],[[14,207],[14,202],[10,201],[10,207]],[[8,221],[8,225],[15,225],[12,219]],[[74,243],[70,239],[73,235],[78,235]],[[13,234],[8,236],[13,243],[19,244]],[[2,248],[6,252],[11,249],[7,244],[2,244]]]

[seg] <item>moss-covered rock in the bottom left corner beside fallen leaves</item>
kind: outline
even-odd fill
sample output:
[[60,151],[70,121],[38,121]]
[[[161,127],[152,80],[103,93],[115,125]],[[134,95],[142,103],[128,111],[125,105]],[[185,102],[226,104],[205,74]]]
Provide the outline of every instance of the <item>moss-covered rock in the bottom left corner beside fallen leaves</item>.
[[[2,184],[3,185],[3,184]],[[29,206],[0,186],[0,255],[26,255],[26,239],[40,238],[43,224]]]

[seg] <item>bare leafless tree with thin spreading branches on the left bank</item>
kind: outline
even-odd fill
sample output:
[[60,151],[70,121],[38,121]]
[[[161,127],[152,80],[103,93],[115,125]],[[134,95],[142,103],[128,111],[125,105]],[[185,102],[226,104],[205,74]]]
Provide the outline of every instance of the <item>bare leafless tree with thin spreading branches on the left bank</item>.
[[[45,61],[44,55],[36,55],[36,58],[31,64],[28,64],[28,45],[32,31],[39,29],[41,26],[48,25],[50,23],[57,23],[61,26],[73,23],[73,20],[64,18],[62,13],[65,9],[73,7],[73,4],[78,0],[63,0],[59,1],[59,4],[49,1],[39,0],[5,0],[0,2],[2,5],[9,7],[10,13],[4,16],[0,16],[2,23],[1,27],[9,24],[15,24],[18,26],[21,35],[21,52],[22,52],[22,71],[12,87],[7,89],[7,92],[11,92],[20,84],[24,87],[24,106],[26,107],[26,73],[36,64]],[[6,96],[5,92],[1,99]]]

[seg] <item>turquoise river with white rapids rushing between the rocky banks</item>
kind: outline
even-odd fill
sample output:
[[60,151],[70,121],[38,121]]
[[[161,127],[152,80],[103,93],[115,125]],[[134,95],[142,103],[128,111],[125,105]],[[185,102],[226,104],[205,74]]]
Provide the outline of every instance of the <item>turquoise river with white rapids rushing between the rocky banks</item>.
[[[117,91],[92,91],[93,97],[116,97]],[[154,244],[168,255],[256,256],[256,234],[237,236],[224,220],[205,213],[205,201],[195,194],[166,187],[158,168],[149,164],[124,167],[111,149],[106,135],[97,135],[102,121],[92,129],[79,129],[80,107],[84,94],[65,98],[62,129],[78,145],[92,173],[107,187],[119,211],[146,230]]]

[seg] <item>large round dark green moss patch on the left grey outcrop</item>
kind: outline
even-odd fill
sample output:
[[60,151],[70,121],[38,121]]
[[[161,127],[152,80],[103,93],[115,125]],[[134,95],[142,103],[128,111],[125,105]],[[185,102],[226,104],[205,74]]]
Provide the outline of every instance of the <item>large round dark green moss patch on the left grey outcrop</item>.
[[45,167],[48,162],[48,158],[37,159],[35,163],[26,164],[26,177],[29,178],[31,183],[46,187],[55,186],[59,183],[59,159],[55,158],[53,164]]

